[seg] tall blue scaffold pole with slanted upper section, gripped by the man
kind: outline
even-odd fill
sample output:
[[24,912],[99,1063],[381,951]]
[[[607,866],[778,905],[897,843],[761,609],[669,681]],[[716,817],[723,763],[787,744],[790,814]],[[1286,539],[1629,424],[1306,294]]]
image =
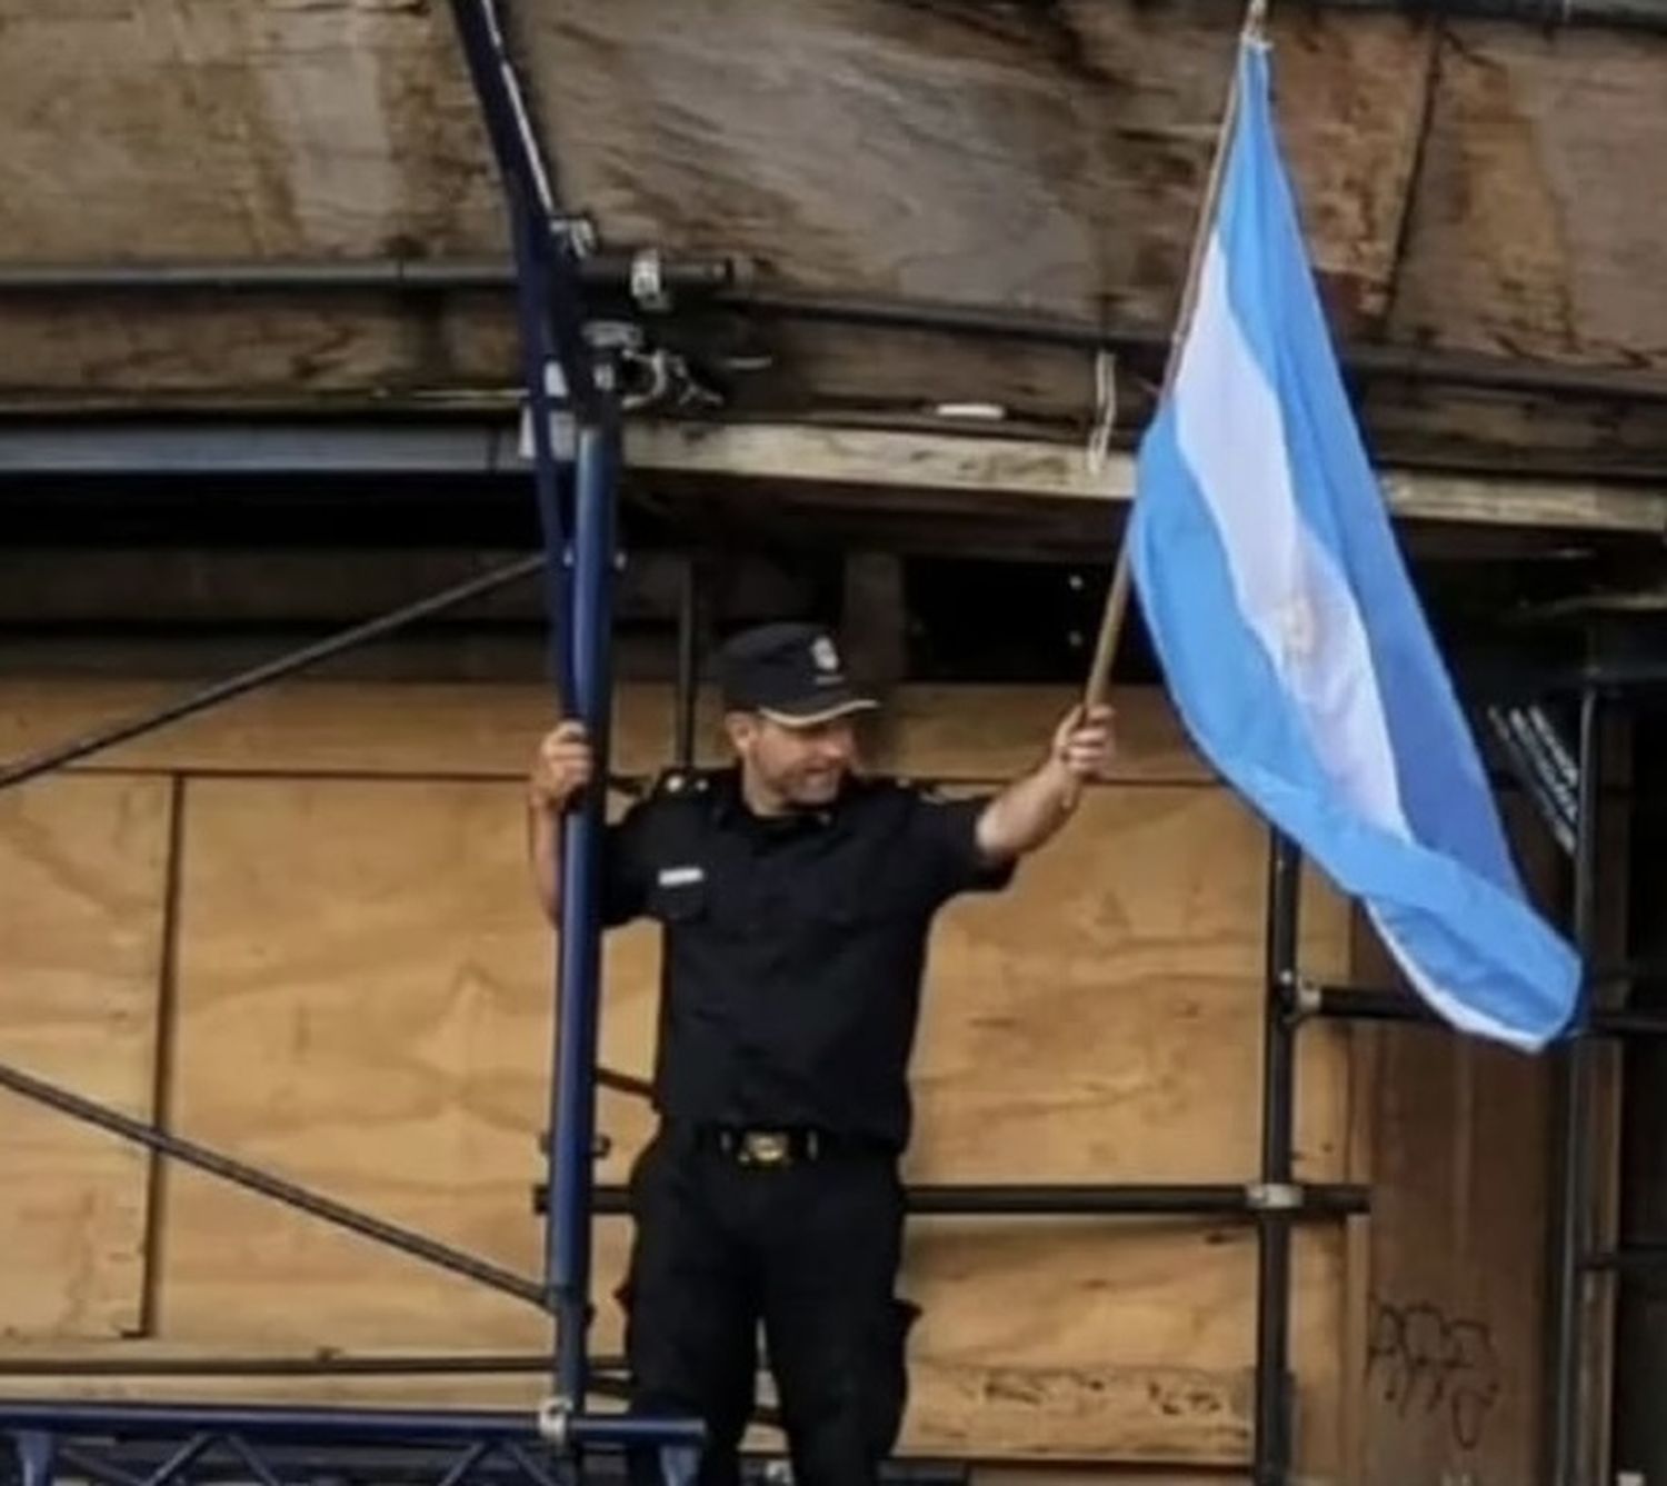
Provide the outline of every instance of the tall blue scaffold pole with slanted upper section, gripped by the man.
[[[590,1222],[595,1161],[597,1024],[602,971],[600,854],[607,826],[612,712],[615,512],[620,472],[618,365],[607,327],[587,327],[578,255],[587,233],[562,215],[555,177],[532,130],[495,0],[452,0],[457,30],[503,175],[515,240],[533,479],[547,549],[552,670],[563,710],[590,734],[593,782],[562,832],[555,1077],[545,1278],[555,1316],[555,1396],[540,1429],[577,1456],[582,1444],[657,1446],[668,1483],[692,1478],[693,1419],[585,1414]],[[592,332],[592,334],[587,334]],[[558,372],[558,377],[553,375]],[[573,412],[572,520],[553,437],[552,382]]]

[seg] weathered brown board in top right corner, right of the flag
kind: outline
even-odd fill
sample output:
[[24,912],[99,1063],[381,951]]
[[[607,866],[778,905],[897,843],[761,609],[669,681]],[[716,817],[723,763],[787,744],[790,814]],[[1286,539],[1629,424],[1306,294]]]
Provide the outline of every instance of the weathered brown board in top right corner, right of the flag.
[[1610,365],[1667,357],[1667,40],[1444,27],[1397,339]]

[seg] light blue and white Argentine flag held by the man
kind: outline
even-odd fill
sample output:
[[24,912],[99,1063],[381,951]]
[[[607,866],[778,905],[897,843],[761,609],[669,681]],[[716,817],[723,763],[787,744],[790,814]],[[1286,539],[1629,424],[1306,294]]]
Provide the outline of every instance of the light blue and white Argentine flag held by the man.
[[1350,414],[1245,40],[1130,562],[1194,742],[1370,914],[1452,1026],[1537,1051],[1580,966],[1529,906]]

